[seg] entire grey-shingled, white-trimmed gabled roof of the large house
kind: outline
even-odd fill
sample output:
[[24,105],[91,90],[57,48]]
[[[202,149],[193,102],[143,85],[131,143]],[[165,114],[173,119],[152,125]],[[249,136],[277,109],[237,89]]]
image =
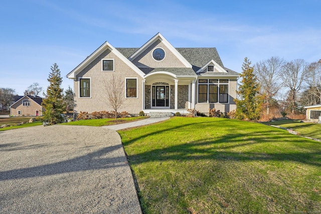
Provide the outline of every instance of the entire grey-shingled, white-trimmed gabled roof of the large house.
[[[94,59],[96,59],[103,51],[106,49],[111,50],[117,57],[122,59],[127,65],[129,65],[136,73],[141,77],[148,74],[149,72],[167,71],[180,74],[186,74],[187,76],[194,76],[191,73],[191,69],[184,70],[184,68],[138,68],[132,61],[139,56],[143,51],[145,51],[149,46],[151,46],[157,40],[162,41],[166,47],[172,51],[172,53],[187,67],[192,68],[195,73],[201,74],[202,68],[204,69],[210,62],[218,65],[221,72],[210,72],[209,76],[239,76],[240,74],[224,67],[222,60],[216,50],[216,48],[174,48],[161,33],[157,33],[148,42],[146,42],[140,48],[114,48],[108,42],[102,44],[96,51],[94,51],[89,57],[87,57],[82,63],[80,63],[74,70],[67,74],[68,78],[75,78],[75,76],[83,70],[88,64],[90,64]],[[226,71],[226,73],[224,73]],[[208,74],[208,73],[207,73]]]

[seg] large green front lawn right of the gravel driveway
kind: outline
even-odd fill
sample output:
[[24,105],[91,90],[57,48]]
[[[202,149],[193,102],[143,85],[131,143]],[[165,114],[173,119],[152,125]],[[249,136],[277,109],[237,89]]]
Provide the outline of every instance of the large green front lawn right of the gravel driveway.
[[119,133],[144,213],[321,211],[319,142],[224,118]]

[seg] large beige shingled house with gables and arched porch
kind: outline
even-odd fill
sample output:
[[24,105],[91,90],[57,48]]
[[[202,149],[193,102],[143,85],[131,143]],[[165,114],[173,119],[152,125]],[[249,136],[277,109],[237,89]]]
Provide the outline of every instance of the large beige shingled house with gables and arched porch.
[[174,48],[158,33],[140,48],[114,48],[108,42],[72,70],[77,112],[112,110],[106,84],[120,78],[124,104],[138,114],[208,113],[236,109],[239,73],[224,67],[216,48]]

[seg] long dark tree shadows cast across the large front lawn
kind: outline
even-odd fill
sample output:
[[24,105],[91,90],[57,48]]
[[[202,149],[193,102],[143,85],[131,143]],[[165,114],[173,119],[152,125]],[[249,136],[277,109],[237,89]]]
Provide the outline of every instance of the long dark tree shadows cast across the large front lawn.
[[[152,137],[153,135],[172,129],[177,129],[180,131],[182,128],[187,127],[189,130],[194,130],[193,126],[198,126],[200,124],[213,125],[213,122],[200,122],[197,124],[188,123],[177,125],[175,127],[162,128],[161,130],[158,129],[157,131],[144,133],[136,138],[126,141],[125,147],[147,136]],[[164,126],[165,124],[166,123],[163,123]],[[236,124],[233,124],[232,120],[227,122],[227,124],[230,128],[232,128],[232,130],[234,127],[235,130],[237,130],[237,128],[243,130],[250,129],[249,127],[240,127]],[[222,125],[222,123],[220,125]],[[271,134],[271,132],[274,132],[274,134]],[[294,138],[297,138],[297,136],[288,134],[286,131],[278,129],[267,129],[266,131],[252,130],[250,133],[242,133],[242,130],[240,130],[221,137],[212,136],[211,138],[200,141],[191,141],[179,144],[175,143],[175,145],[151,149],[139,154],[127,154],[127,158],[131,164],[165,160],[222,159],[231,161],[294,161],[314,166],[321,166],[321,161],[319,158],[317,158],[321,156],[321,149],[320,144],[316,141],[310,140],[308,144],[304,144],[305,148],[308,148],[310,152],[308,152],[306,149],[300,149],[299,146],[288,152],[286,152],[285,148],[282,148],[282,143],[291,143],[291,141],[294,140],[293,144],[295,144]],[[304,139],[304,141],[305,140],[306,139]],[[271,145],[269,145],[269,143],[275,142],[280,143],[280,150],[272,148]],[[243,151],[242,147],[252,145],[259,145],[262,147],[262,149],[245,148],[245,151]],[[265,150],[265,146],[270,146],[271,149]],[[240,151],[238,151],[238,148],[240,148]]]

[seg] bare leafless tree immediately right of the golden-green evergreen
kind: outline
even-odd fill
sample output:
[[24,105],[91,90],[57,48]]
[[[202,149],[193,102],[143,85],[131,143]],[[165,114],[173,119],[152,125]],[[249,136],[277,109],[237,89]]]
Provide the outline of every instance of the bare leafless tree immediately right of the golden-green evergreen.
[[284,60],[279,57],[271,57],[268,60],[256,63],[254,66],[254,72],[264,97],[267,115],[269,114],[271,99],[279,92],[282,86],[282,82],[279,79],[283,66]]

